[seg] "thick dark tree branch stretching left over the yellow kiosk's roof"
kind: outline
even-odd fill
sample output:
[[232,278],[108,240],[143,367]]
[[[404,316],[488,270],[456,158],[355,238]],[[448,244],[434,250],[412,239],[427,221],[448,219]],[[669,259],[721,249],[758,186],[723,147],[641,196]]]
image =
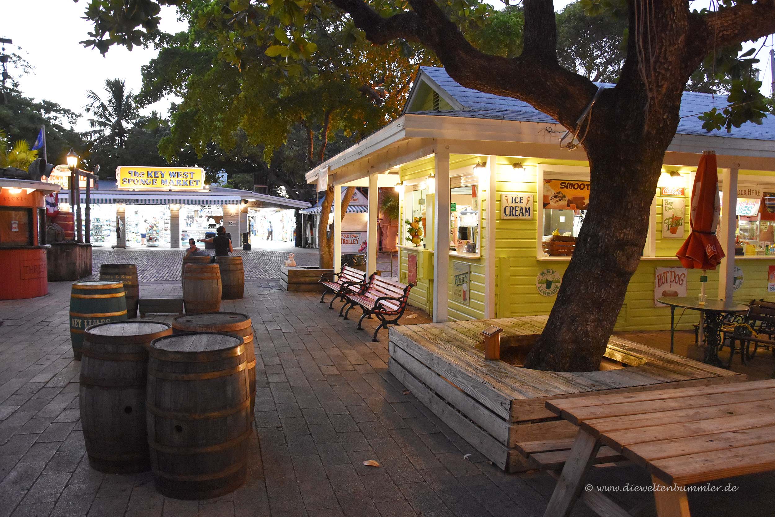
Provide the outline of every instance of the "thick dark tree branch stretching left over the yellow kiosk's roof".
[[387,18],[363,0],[330,1],[348,12],[371,42],[422,43],[463,86],[529,102],[569,128],[597,91],[587,78],[557,63],[554,2],[549,0],[525,0],[525,50],[514,59],[474,48],[435,0],[409,0],[412,12]]

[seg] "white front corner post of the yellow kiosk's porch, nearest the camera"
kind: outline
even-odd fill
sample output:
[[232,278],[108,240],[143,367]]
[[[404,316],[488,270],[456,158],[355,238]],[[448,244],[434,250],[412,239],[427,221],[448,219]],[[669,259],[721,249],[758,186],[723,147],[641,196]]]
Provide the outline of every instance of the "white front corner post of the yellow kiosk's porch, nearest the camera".
[[436,233],[433,239],[433,322],[446,322],[449,297],[449,151],[436,150]]

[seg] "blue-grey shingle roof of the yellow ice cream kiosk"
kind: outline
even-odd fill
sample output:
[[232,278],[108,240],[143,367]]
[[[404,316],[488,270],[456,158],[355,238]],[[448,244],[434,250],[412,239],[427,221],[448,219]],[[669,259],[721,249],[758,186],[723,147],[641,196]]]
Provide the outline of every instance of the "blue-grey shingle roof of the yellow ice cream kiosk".
[[[474,119],[515,120],[522,122],[546,122],[556,124],[556,120],[539,112],[527,102],[518,101],[515,98],[501,97],[491,93],[465,88],[453,78],[449,77],[446,70],[438,67],[420,67],[432,81],[439,84],[450,96],[463,105],[464,111],[429,111],[415,112],[422,115],[446,115],[470,117]],[[750,140],[775,140],[775,115],[770,115],[763,120],[762,125],[747,122],[739,128],[732,128],[732,133],[725,129],[708,133],[702,129],[702,121],[697,118],[698,113],[707,112],[713,107],[722,109],[728,102],[725,95],[710,95],[685,91],[681,99],[680,115],[684,117],[678,123],[676,133],[684,135],[722,136],[727,138],[745,138]]]

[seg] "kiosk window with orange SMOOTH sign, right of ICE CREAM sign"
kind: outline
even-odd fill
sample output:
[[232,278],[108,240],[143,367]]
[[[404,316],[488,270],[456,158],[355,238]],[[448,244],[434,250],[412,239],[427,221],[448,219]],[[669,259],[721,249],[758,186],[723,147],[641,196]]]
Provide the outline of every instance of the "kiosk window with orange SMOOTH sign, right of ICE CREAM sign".
[[569,257],[587,215],[589,181],[544,179],[543,253]]

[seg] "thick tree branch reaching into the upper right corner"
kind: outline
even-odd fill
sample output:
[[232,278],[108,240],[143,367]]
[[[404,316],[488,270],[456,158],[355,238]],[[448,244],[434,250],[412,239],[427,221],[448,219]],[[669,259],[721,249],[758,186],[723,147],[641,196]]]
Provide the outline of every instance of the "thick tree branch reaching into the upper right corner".
[[706,49],[724,47],[732,43],[758,40],[775,33],[775,0],[756,3],[738,3],[732,7],[695,15],[698,27],[695,37],[704,41]]

